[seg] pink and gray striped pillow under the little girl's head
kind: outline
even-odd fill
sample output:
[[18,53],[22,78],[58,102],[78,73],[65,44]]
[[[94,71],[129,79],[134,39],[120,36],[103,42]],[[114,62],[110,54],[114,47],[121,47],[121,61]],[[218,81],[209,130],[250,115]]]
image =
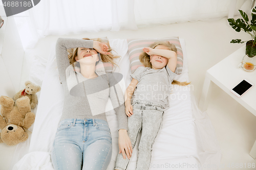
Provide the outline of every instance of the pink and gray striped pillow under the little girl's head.
[[180,45],[179,37],[169,37],[169,38],[160,38],[160,39],[127,39],[129,47],[129,58],[130,66],[133,72],[140,66],[143,66],[139,60],[139,55],[143,53],[143,47],[148,47],[150,44],[156,41],[169,41],[173,43],[177,48],[177,66],[175,73],[180,75],[182,72],[183,65],[183,53]]

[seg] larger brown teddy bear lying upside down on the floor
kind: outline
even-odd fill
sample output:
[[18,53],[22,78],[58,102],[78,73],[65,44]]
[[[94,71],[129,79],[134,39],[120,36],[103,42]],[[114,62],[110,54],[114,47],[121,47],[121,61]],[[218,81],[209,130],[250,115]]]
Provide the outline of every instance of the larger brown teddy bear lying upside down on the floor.
[[12,98],[0,96],[0,143],[15,145],[28,139],[28,128],[35,121],[35,114],[31,112],[28,96],[17,99],[17,106],[14,106]]

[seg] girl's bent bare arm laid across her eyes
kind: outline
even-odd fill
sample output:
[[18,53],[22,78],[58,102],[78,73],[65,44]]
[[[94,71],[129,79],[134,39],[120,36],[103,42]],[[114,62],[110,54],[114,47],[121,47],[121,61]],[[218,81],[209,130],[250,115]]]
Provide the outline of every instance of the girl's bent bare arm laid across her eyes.
[[162,50],[162,49],[153,49],[151,47],[144,47],[143,51],[148,55],[158,55],[168,59],[167,66],[170,70],[175,72],[177,65],[177,53],[170,50]]

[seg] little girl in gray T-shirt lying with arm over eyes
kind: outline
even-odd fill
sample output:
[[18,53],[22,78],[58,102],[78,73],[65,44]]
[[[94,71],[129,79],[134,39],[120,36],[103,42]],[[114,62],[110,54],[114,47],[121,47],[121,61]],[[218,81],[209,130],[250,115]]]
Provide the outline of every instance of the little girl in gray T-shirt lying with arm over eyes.
[[[132,82],[125,93],[125,113],[128,117],[128,135],[132,142],[132,153],[137,136],[142,130],[139,143],[137,170],[146,170],[150,166],[152,145],[162,122],[162,114],[169,107],[170,85],[188,85],[187,82],[174,81],[177,65],[177,48],[174,44],[155,42],[143,48],[139,56],[145,66],[138,67],[131,75]],[[132,95],[133,102],[131,104]],[[131,154],[130,154],[131,155]],[[130,157],[117,155],[115,169],[127,168]]]

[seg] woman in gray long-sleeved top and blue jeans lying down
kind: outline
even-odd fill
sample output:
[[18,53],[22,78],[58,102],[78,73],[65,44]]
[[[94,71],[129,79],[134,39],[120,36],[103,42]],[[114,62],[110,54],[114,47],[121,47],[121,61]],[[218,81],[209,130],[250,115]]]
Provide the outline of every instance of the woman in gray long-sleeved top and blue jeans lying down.
[[[105,106],[109,96],[118,118],[119,150],[130,156],[131,141],[127,135],[124,102],[117,100],[117,96],[122,95],[121,88],[111,73],[102,74],[95,70],[100,58],[115,64],[116,56],[110,51],[108,45],[95,40],[57,40],[56,61],[65,100],[51,154],[56,170],[108,167],[112,138]],[[79,62],[80,72],[73,69],[74,62]]]

